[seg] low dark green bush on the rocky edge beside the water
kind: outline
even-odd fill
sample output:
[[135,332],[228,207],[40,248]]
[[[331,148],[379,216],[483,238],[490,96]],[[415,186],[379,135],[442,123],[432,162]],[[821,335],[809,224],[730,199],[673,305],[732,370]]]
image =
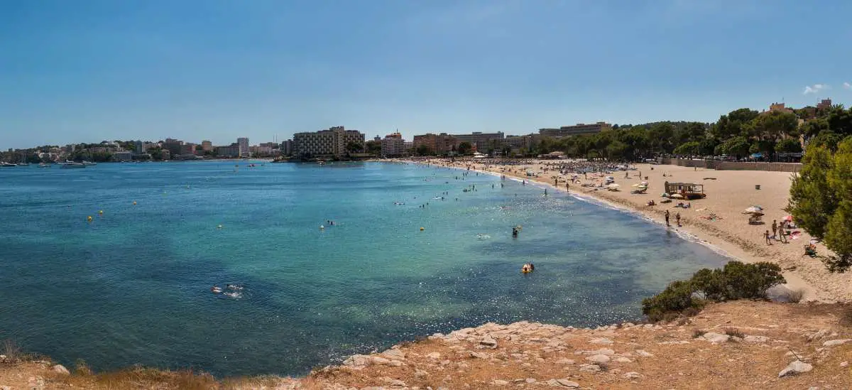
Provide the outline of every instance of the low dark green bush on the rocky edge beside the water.
[[671,313],[694,315],[706,301],[766,299],[766,290],[785,282],[777,264],[728,261],[722,269],[704,268],[688,280],[671,282],[659,294],[642,300],[642,314],[656,322],[671,318]]

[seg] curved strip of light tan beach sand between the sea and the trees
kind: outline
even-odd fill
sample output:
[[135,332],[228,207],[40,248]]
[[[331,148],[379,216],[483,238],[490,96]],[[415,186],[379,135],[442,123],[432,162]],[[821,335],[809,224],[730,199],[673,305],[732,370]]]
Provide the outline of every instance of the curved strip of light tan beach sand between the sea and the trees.
[[[784,205],[786,205],[786,197],[789,193],[789,180],[785,181],[788,176],[782,176],[790,175],[788,173],[764,171],[717,171],[712,169],[691,169],[674,165],[636,164],[635,171],[626,171],[628,172],[628,175],[630,175],[627,179],[617,177],[618,175],[623,174],[624,171],[618,171],[617,173],[612,174],[613,176],[616,176],[615,179],[618,182],[624,182],[625,180],[628,182],[638,182],[641,181],[642,178],[648,176],[650,181],[648,194],[640,197],[631,197],[630,192],[627,191],[610,192],[606,191],[606,188],[590,188],[579,184],[573,184],[567,189],[565,186],[555,186],[553,181],[546,181],[541,176],[527,177],[526,175],[526,172],[529,169],[536,173],[544,172],[546,177],[552,178],[552,172],[547,170],[547,167],[549,164],[559,163],[561,160],[531,159],[524,160],[526,163],[518,163],[515,165],[495,165],[471,160],[451,160],[449,158],[430,158],[424,160],[400,159],[397,161],[446,168],[469,169],[471,171],[487,175],[505,175],[507,178],[512,178],[513,180],[527,181],[529,183],[534,183],[537,186],[545,186],[559,192],[567,192],[573,198],[577,198],[581,201],[599,204],[603,207],[619,209],[623,212],[636,215],[637,217],[663,226],[665,226],[664,210],[670,209],[672,219],[674,219],[676,212],[684,214],[681,220],[682,226],[678,227],[675,223],[671,223],[671,227],[669,227],[671,232],[676,233],[681,238],[693,241],[697,244],[705,245],[720,255],[730,257],[732,260],[751,263],[769,261],[779,264],[780,267],[783,268],[784,277],[786,278],[786,284],[783,286],[789,290],[802,291],[803,301],[852,301],[852,275],[849,275],[848,273],[828,272],[819,260],[797,255],[797,252],[803,252],[803,250],[796,248],[801,246],[800,244],[807,244],[809,242],[810,237],[806,232],[802,232],[797,241],[791,241],[791,243],[794,244],[781,244],[780,242],[775,242],[773,245],[765,245],[761,242],[763,239],[762,232],[757,232],[756,234],[752,231],[757,231],[759,228],[769,229],[769,223],[771,223],[771,220],[769,220],[764,227],[751,229],[749,229],[749,227],[744,228],[740,224],[741,221],[739,220],[746,219],[744,216],[739,215],[740,210],[748,207],[743,204],[748,204],[750,200],[743,197],[742,199],[739,199],[742,201],[739,202],[741,204],[737,205],[738,202],[736,202],[736,200],[738,199],[736,199],[736,197],[739,196],[739,192],[742,192],[742,188],[738,188],[737,191],[730,193],[712,193],[708,195],[708,199],[711,199],[711,202],[705,202],[707,199],[694,200],[691,202],[694,203],[694,207],[692,209],[671,209],[665,208],[665,206],[662,206],[661,204],[657,204],[656,206],[646,205],[648,200],[658,199],[654,198],[653,194],[659,194],[662,192],[662,190],[659,190],[659,188],[661,188],[660,183],[664,181],[662,174],[668,174],[668,177],[671,177],[672,175],[681,177],[687,174],[687,176],[697,177],[698,175],[695,174],[706,174],[709,172],[712,176],[719,176],[714,178],[718,179],[718,181],[714,180],[713,184],[728,180],[743,181],[743,178],[745,178],[745,180],[761,178],[757,179],[757,181],[764,181],[766,178],[769,178],[771,185],[768,186],[764,184],[763,192],[760,193],[760,196],[766,197],[766,195],[770,195],[766,198],[772,198],[771,204],[773,204],[773,206],[767,207],[767,210],[780,210]],[[652,167],[658,168],[653,170]],[[633,175],[633,172],[645,172],[648,175],[642,174],[642,177],[640,177],[639,175]],[[561,178],[559,176],[556,176],[557,182],[559,182],[560,179]],[[596,181],[596,178],[581,181],[584,181],[584,183],[594,182]],[[561,181],[561,184],[564,184],[564,181]],[[704,184],[705,186],[707,185],[706,182]],[[658,189],[653,189],[655,185]],[[710,190],[708,190],[708,192],[710,192]],[[783,198],[783,202],[779,200],[781,198]],[[700,218],[696,218],[692,215],[694,214],[692,213],[692,210],[702,210],[702,207],[705,205],[705,209],[712,208],[714,212],[723,215],[723,217],[711,222],[701,221]],[[740,209],[737,208],[739,206],[741,206]],[[826,253],[827,249],[824,246],[821,244],[817,244],[817,246],[820,253]]]

